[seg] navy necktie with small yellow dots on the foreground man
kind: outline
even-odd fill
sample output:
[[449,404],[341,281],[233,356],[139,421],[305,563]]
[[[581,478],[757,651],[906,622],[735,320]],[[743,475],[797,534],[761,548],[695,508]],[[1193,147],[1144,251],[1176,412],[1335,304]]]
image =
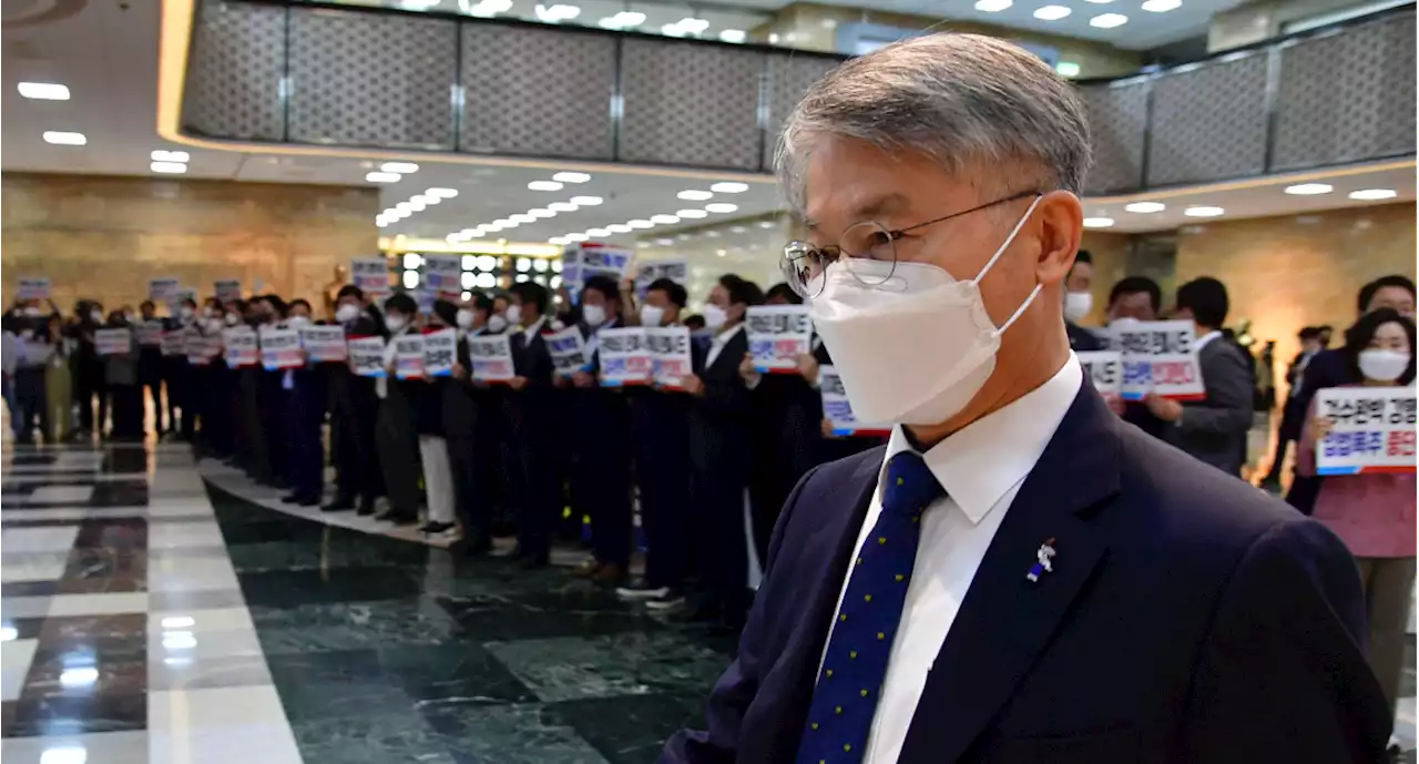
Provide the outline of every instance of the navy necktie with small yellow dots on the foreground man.
[[901,452],[887,462],[883,511],[849,569],[847,594],[833,621],[796,764],[857,764],[867,754],[877,696],[917,562],[921,513],[941,494],[921,454]]

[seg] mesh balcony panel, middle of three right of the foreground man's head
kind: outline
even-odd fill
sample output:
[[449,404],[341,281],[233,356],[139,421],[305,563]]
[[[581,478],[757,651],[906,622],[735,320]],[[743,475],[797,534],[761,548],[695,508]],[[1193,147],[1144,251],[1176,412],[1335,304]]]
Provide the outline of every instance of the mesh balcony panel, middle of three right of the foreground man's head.
[[1149,186],[1266,170],[1266,60],[1260,51],[1154,80]]

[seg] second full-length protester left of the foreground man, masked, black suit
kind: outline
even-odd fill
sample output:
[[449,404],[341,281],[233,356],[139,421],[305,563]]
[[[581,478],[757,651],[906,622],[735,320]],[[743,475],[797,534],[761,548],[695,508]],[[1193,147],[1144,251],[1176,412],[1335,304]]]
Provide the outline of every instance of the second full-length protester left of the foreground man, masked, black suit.
[[690,618],[729,629],[744,623],[749,601],[745,513],[755,426],[739,364],[749,352],[745,312],[761,302],[758,284],[734,274],[719,277],[704,311],[714,337],[692,352],[694,373],[684,381],[692,399],[690,538],[692,557],[702,564],[704,588]]

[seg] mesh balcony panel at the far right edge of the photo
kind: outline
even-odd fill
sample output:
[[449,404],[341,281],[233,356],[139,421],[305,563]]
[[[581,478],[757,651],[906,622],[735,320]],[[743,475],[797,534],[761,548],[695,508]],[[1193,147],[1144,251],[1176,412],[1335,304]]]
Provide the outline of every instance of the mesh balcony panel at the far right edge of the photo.
[[1271,169],[1412,152],[1415,26],[1406,13],[1283,48]]

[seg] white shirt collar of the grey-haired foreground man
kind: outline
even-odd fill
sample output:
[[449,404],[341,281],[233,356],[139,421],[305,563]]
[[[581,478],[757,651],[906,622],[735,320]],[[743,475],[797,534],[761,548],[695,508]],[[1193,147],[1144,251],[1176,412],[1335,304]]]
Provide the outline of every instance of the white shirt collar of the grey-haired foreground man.
[[[1006,491],[1030,474],[1083,382],[1084,372],[1071,352],[1049,382],[966,425],[924,454],[931,474],[971,523],[981,523]],[[887,460],[910,450],[905,430],[901,425],[893,427],[883,473]]]

